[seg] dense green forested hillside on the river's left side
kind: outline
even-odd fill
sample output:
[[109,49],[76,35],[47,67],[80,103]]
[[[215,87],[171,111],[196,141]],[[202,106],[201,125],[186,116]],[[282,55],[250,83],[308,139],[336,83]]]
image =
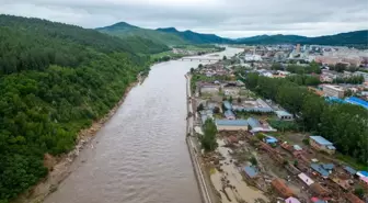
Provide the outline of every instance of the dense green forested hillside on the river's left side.
[[[74,146],[168,47],[38,19],[0,15],[0,202],[47,174],[46,153]],[[136,53],[139,53],[137,55]]]

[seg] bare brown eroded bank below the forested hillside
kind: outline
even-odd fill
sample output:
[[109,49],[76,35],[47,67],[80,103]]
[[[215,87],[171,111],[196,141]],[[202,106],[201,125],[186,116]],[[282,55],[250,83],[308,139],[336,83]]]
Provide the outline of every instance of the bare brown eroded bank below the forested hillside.
[[76,158],[79,156],[79,153],[84,148],[93,148],[91,140],[96,135],[99,129],[116,113],[118,108],[124,103],[127,94],[130,90],[137,84],[143,82],[146,77],[142,77],[140,74],[137,76],[137,81],[133,82],[123,94],[122,99],[115,104],[115,106],[101,120],[95,121],[89,128],[81,129],[77,135],[76,147],[73,150],[68,154],[54,157],[51,155],[45,155],[44,162],[45,166],[49,169],[49,173],[43,180],[39,181],[36,185],[31,188],[28,191],[21,194],[16,198],[13,203],[41,203],[43,202],[50,193],[57,191],[58,185],[67,179],[70,173],[73,171],[72,163]]

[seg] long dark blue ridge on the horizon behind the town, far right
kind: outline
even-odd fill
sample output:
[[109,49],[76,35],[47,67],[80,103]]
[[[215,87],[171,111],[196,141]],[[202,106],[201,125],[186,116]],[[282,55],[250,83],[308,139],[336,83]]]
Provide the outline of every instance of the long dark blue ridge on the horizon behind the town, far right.
[[299,35],[258,35],[238,38],[235,44],[320,44],[320,45],[368,45],[368,31],[355,31],[327,36],[307,37]]

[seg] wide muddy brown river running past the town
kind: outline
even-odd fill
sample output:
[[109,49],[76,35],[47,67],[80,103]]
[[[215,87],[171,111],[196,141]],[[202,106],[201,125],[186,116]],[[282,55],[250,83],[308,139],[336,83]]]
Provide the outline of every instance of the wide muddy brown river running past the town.
[[[227,48],[230,57],[241,49]],[[199,61],[151,67],[45,203],[200,203],[185,143],[186,81]]]

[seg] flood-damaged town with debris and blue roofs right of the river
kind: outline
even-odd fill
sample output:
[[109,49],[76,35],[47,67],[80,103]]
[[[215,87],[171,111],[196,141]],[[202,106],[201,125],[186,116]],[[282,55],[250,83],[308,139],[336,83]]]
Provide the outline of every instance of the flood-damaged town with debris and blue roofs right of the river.
[[[211,202],[366,202],[367,157],[322,136],[327,129],[321,125],[337,120],[327,112],[350,108],[363,114],[356,127],[366,128],[368,52],[299,44],[241,48],[186,76],[194,120],[188,138]],[[348,134],[341,128],[331,131]]]

